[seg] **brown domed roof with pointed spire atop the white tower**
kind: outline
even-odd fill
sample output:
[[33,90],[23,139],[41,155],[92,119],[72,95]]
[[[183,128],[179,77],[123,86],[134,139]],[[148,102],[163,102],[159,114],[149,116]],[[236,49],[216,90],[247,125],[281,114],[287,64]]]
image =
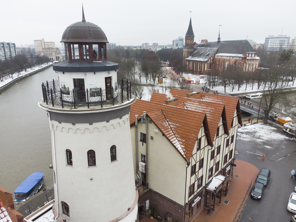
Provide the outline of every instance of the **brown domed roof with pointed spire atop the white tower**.
[[103,30],[91,23],[86,22],[82,7],[82,22],[75,22],[69,25],[60,42],[104,42],[109,43]]

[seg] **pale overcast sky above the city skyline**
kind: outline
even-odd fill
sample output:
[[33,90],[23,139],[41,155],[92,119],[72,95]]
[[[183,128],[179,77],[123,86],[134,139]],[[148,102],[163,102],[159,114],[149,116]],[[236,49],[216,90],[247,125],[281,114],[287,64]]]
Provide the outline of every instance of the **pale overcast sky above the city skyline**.
[[65,28],[82,20],[102,28],[117,45],[172,44],[184,37],[192,11],[194,40],[252,39],[263,43],[268,35],[296,36],[294,1],[2,1],[1,41],[33,44],[44,38],[59,46]]

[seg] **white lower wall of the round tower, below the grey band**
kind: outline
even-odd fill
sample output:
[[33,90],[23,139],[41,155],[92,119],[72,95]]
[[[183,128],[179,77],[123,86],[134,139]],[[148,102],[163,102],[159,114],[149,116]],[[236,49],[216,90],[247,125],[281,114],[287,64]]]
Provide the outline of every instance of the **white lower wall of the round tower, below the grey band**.
[[[109,123],[73,126],[51,120],[50,124],[55,138],[52,144],[55,144],[57,161],[55,196],[58,195],[59,215],[67,221],[80,222],[111,221],[125,213],[133,205],[137,192],[129,114]],[[113,162],[110,159],[112,145],[116,146],[117,156]],[[67,165],[66,149],[72,151],[73,165]],[[89,149],[96,152],[96,166],[88,166]],[[61,201],[69,205],[70,218],[62,214]],[[135,221],[137,206],[133,211],[126,221]]]

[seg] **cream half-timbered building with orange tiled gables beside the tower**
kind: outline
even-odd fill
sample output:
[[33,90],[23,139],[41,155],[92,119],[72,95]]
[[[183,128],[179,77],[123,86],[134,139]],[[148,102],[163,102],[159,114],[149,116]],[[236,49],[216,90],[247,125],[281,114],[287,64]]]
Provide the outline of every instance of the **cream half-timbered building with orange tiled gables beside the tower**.
[[204,208],[215,211],[215,202],[227,195],[242,124],[239,100],[179,89],[170,93],[171,99],[153,93],[150,102],[131,106],[139,217],[154,205],[163,218],[193,221]]

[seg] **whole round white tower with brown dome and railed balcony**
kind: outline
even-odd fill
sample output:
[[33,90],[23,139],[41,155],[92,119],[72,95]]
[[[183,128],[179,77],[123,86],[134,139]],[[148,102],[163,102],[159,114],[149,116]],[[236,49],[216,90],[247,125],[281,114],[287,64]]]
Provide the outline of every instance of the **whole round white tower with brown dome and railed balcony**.
[[38,103],[52,136],[55,221],[132,221],[138,191],[133,175],[131,83],[117,79],[99,26],[76,22],[63,33],[66,62],[58,81],[42,84]]

